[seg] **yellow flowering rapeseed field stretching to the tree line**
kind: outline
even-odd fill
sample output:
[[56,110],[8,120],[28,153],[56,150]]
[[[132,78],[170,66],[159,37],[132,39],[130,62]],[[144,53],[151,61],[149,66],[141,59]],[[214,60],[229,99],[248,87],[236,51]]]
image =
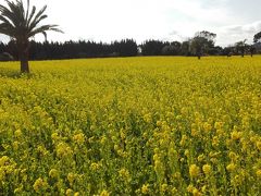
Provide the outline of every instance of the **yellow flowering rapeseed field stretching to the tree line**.
[[261,57],[0,63],[0,195],[261,195]]

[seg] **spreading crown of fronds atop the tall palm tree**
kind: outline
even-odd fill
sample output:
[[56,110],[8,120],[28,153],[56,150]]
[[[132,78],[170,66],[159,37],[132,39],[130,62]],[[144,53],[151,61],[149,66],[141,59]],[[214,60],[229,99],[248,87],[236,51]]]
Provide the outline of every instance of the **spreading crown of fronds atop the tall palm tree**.
[[15,39],[29,39],[36,34],[44,34],[47,37],[47,30],[63,33],[58,28],[58,25],[41,25],[40,22],[47,19],[45,11],[47,5],[41,8],[38,12],[36,7],[25,4],[22,0],[4,0],[7,7],[0,4],[0,34],[9,35]]

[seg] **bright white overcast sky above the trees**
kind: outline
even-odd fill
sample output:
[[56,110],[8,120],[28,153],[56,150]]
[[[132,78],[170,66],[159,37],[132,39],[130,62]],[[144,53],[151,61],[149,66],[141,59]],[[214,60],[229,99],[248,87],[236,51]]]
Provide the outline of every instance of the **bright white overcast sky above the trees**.
[[[0,0],[1,2],[2,0]],[[186,40],[196,32],[217,34],[226,46],[261,32],[261,0],[30,0],[47,4],[44,23],[59,24],[64,35],[49,33],[49,40],[69,39],[110,42],[134,38]],[[42,23],[42,24],[44,24]],[[2,37],[0,37],[2,38]],[[36,37],[36,40],[42,40]]]

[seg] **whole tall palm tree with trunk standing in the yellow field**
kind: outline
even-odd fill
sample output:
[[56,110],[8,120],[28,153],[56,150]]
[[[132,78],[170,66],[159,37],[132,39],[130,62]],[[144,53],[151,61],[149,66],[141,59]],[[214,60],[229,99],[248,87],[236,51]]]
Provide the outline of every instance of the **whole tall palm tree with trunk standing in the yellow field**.
[[0,4],[0,34],[10,36],[17,46],[21,62],[21,72],[29,73],[28,52],[29,39],[36,34],[42,34],[47,39],[47,30],[63,33],[58,25],[39,25],[47,19],[45,11],[47,5],[36,12],[36,7],[30,9],[29,0],[25,9],[22,0],[4,0],[7,7]]

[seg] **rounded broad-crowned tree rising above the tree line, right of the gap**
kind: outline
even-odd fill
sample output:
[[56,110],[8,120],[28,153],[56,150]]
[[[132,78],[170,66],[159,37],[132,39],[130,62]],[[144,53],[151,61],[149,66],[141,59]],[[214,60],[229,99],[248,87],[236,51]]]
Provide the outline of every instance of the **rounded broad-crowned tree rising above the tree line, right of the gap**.
[[196,33],[190,41],[191,52],[200,59],[203,53],[208,53],[209,49],[214,47],[215,37],[216,34],[207,30]]

